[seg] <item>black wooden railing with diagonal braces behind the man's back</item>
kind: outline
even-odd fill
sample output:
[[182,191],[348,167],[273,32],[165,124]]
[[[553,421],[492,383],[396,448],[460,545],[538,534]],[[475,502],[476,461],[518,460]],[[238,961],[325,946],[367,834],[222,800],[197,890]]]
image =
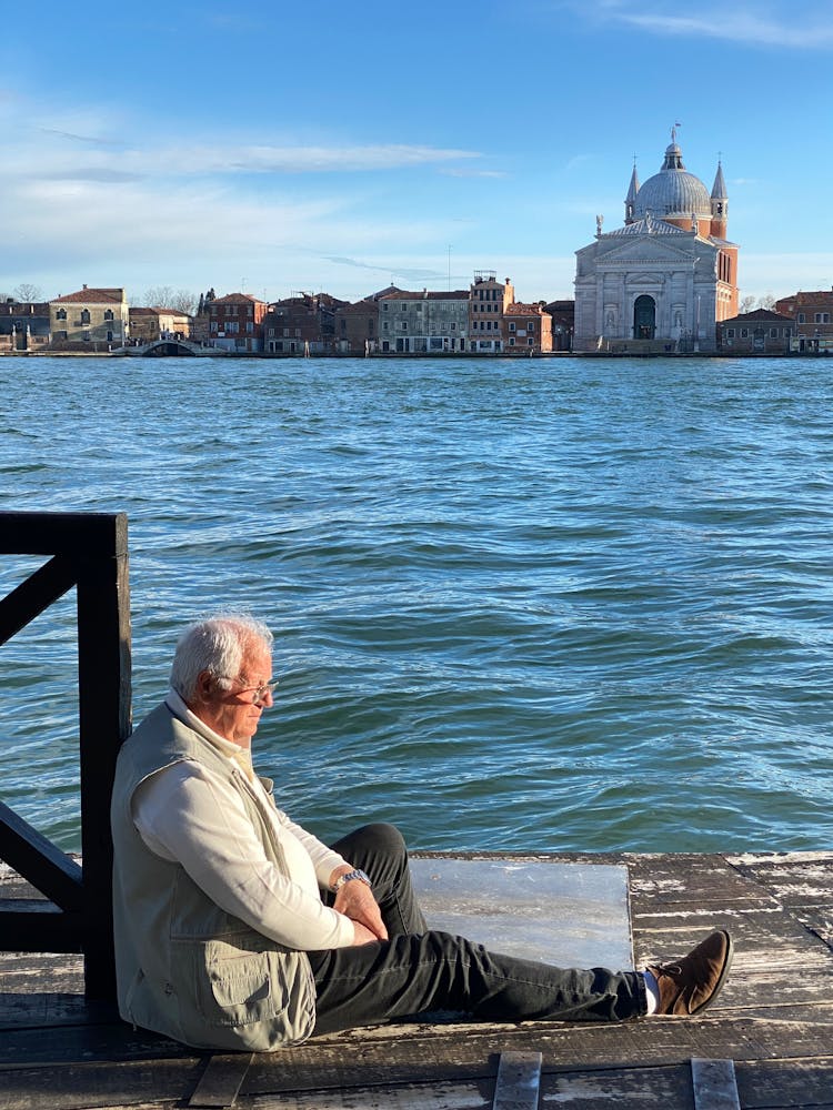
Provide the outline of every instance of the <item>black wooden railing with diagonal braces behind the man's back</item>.
[[[127,516],[0,513],[1,555],[48,558],[0,599],[0,645],[68,591],[77,593],[83,867],[0,803],[0,859],[47,899],[0,901],[0,951],[82,951],[87,997],[112,998],[109,809],[116,757],[130,733]],[[48,656],[48,642],[42,650]],[[2,696],[0,684],[0,722]],[[0,748],[0,795],[1,770]]]

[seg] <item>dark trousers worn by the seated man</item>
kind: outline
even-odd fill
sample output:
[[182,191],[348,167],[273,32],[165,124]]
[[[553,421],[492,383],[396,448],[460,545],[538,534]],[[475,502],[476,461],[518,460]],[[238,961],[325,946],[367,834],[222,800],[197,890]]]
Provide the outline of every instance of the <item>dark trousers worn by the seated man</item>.
[[482,1021],[621,1021],[646,1012],[635,971],[556,968],[429,929],[392,825],[368,825],[333,847],[370,876],[390,939],[309,953],[315,1033],[443,1010]]

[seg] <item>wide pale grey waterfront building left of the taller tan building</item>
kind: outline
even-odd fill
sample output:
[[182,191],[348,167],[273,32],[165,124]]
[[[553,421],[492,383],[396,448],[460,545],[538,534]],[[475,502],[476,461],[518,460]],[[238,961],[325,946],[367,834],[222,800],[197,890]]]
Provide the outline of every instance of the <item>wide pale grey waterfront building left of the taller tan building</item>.
[[468,290],[398,290],[379,297],[382,353],[431,354],[469,349]]

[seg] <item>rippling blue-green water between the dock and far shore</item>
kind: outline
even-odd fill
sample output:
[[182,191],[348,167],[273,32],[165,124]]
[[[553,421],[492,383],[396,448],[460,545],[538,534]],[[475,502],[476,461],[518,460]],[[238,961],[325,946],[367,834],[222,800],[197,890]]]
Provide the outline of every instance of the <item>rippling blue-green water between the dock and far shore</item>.
[[[268,620],[255,763],[324,839],[826,848],[832,376],[7,357],[0,508],[129,515],[136,719],[185,622]],[[73,637],[70,595],[0,648],[0,797],[69,849]]]

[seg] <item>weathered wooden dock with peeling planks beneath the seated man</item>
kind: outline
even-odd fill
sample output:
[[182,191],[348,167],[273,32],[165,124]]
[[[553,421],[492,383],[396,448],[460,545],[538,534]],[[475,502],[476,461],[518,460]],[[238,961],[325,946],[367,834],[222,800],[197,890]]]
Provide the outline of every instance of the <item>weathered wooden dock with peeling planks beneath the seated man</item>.
[[[80,957],[0,955],[0,1107],[833,1110],[833,851],[534,859],[628,866],[640,967],[731,929],[719,1001],[696,1019],[399,1025],[212,1056],[84,1001]],[[31,897],[0,881],[2,900]]]

